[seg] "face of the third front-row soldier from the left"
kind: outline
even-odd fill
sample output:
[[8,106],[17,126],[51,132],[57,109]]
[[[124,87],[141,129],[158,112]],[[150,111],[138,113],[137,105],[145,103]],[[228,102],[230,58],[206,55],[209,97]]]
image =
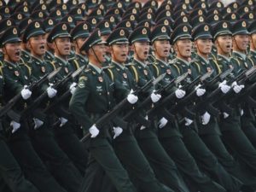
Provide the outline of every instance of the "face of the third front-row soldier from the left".
[[70,55],[70,38],[55,38],[54,48],[57,55]]

